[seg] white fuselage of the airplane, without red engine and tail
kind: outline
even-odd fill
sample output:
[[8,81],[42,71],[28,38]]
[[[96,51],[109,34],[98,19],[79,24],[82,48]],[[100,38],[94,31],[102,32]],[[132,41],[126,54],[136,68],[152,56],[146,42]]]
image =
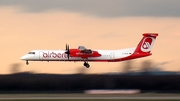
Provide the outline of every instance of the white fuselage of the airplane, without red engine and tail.
[[[88,61],[110,61],[128,57],[133,54],[135,48],[121,50],[95,50],[101,56],[88,57]],[[21,60],[28,61],[84,61],[81,57],[70,57],[68,59],[65,50],[33,50],[21,57]]]

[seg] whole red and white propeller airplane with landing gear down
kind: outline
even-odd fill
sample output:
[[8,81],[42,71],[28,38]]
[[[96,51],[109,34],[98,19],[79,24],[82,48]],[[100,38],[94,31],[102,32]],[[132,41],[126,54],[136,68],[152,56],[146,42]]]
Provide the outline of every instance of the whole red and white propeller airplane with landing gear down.
[[65,50],[32,50],[20,59],[26,61],[82,61],[89,68],[88,62],[121,62],[152,55],[151,50],[158,33],[144,33],[139,44],[134,48],[120,50],[92,50],[84,46]]

